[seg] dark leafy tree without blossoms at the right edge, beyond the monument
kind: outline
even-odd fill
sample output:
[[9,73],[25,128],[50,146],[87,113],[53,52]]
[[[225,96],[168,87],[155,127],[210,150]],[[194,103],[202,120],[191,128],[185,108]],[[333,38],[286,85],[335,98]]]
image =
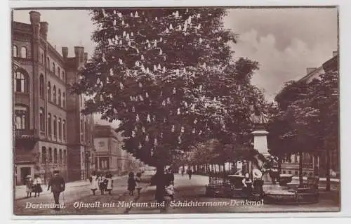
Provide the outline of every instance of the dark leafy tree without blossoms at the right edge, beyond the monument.
[[338,150],[338,72],[326,72],[308,84],[291,82],[276,100],[279,111],[270,123],[274,154],[326,154],[326,190],[330,189],[329,151]]

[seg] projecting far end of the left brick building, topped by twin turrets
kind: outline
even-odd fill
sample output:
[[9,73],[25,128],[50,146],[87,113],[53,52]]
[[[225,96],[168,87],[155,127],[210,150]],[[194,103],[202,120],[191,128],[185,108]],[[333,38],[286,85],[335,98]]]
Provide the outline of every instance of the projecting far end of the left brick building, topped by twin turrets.
[[[67,84],[74,84],[79,80],[77,71],[88,60],[84,47],[74,47],[74,57],[68,58],[68,48],[62,47],[62,56],[67,70]],[[94,143],[93,143],[93,114],[82,114],[86,107],[84,95],[69,94],[67,98],[67,121],[69,123],[68,174],[69,180],[87,179],[94,169]]]

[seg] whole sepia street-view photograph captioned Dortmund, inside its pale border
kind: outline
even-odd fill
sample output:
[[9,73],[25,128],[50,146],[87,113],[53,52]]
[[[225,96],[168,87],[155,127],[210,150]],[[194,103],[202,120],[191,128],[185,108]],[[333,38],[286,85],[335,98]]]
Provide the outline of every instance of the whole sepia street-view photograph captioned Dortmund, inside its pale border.
[[13,215],[340,211],[338,19],[12,8]]

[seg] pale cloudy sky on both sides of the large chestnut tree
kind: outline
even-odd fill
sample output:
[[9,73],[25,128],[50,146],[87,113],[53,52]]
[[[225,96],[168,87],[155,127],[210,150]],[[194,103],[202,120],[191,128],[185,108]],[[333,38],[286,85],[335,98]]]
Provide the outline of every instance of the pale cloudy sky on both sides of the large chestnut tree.
[[[74,46],[91,55],[95,29],[84,10],[37,10],[48,22],[48,41],[60,53],[62,46],[74,56]],[[13,12],[13,20],[29,23],[29,10]],[[336,8],[231,8],[225,28],[239,34],[232,44],[234,58],[256,60],[260,70],[252,84],[273,100],[286,81],[305,76],[307,67],[320,67],[338,50]]]

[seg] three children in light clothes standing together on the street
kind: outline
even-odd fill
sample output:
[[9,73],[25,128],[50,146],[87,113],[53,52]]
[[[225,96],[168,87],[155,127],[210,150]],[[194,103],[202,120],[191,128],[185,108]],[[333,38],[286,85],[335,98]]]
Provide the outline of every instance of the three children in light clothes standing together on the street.
[[104,176],[102,174],[97,175],[95,172],[93,172],[89,178],[89,182],[93,195],[95,195],[96,190],[100,190],[101,195],[105,195],[105,192],[112,195],[113,180],[111,173],[106,173]]

